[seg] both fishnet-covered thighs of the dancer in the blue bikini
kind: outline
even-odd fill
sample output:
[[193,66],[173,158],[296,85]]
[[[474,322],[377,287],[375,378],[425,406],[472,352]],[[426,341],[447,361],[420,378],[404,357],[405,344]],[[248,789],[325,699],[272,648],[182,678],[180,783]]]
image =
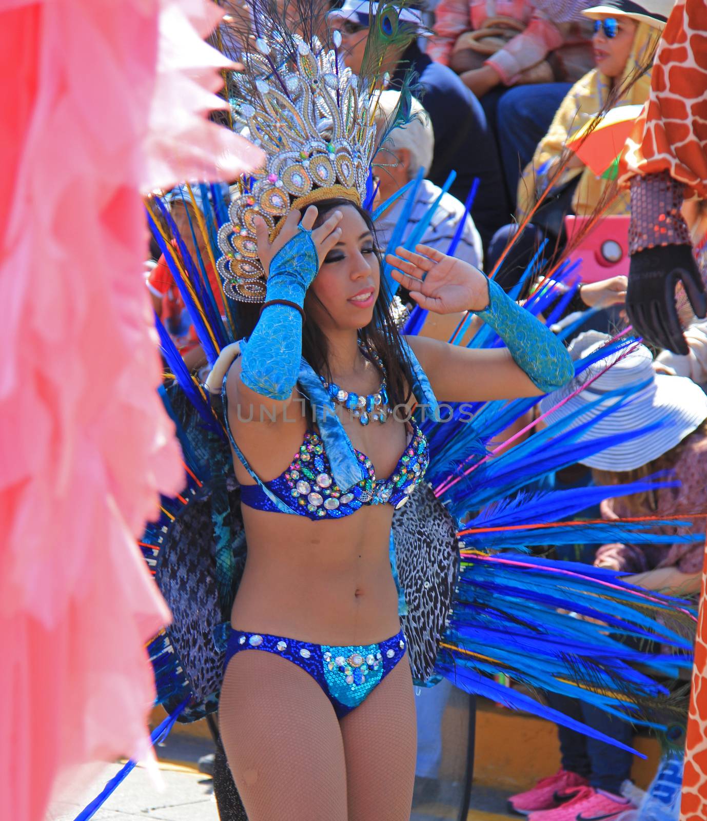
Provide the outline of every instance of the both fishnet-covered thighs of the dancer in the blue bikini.
[[339,723],[300,667],[239,653],[226,670],[218,717],[249,821],[409,819],[416,732],[406,658]]

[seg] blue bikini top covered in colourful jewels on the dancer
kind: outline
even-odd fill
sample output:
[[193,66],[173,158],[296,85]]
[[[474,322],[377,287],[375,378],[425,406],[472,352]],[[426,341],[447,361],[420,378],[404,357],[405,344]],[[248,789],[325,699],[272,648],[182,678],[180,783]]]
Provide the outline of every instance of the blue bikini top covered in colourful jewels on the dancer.
[[[263,485],[292,513],[310,519],[349,516],[364,505],[402,507],[422,481],[429,462],[425,434],[414,420],[411,427],[410,442],[387,479],[376,479],[373,462],[365,453],[354,450],[366,478],[342,492],[333,479],[322,439],[314,430],[308,430],[287,470]],[[241,503],[261,511],[282,510],[261,484],[241,485]]]

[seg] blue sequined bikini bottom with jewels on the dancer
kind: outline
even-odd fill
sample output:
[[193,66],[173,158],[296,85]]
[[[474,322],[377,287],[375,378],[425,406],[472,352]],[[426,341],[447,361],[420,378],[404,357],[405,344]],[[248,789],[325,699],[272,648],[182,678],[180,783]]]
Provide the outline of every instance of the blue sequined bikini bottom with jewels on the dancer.
[[343,718],[393,670],[405,655],[405,648],[402,631],[380,644],[337,647],[233,630],[228,639],[223,669],[242,650],[265,650],[287,658],[310,674],[331,701],[337,718]]

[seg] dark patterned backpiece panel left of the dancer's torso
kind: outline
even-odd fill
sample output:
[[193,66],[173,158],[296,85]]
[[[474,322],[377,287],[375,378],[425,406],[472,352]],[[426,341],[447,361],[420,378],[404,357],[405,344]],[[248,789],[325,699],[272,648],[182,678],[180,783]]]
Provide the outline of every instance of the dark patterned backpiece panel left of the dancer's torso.
[[[155,680],[158,701],[168,713],[191,695],[177,719],[191,722],[218,708],[231,604],[246,565],[246,534],[227,443],[204,428],[177,383],[163,392],[163,401],[177,423],[186,461],[198,466],[202,483],[184,493],[183,506],[172,506],[176,517],[158,534],[154,580],[172,611],[166,634],[174,675],[165,677],[165,695],[161,668],[155,668]],[[172,692],[173,680],[185,677],[186,686]]]

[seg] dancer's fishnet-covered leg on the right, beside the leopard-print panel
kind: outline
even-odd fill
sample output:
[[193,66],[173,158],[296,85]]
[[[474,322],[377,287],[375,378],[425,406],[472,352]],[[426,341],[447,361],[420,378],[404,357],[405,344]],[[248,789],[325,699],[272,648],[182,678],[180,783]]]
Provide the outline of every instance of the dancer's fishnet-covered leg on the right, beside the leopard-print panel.
[[408,821],[417,754],[407,658],[341,721],[349,821]]

